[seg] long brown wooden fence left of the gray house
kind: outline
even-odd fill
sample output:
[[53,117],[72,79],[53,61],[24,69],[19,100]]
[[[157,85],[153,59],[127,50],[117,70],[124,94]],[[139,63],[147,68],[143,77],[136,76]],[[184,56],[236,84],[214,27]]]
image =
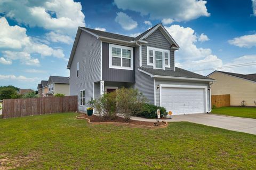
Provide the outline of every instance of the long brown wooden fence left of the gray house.
[[77,111],[77,96],[3,100],[3,118]]

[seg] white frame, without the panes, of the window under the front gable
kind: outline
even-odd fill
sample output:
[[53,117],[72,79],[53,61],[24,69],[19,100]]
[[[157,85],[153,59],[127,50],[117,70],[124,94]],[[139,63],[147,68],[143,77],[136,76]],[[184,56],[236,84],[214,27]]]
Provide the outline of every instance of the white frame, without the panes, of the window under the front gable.
[[[153,50],[153,63],[149,62],[149,50]],[[163,68],[156,68],[156,58],[155,58],[155,51],[160,51],[163,53]],[[164,53],[168,54],[168,64],[165,64],[165,56]],[[161,70],[165,70],[165,67],[169,67],[170,68],[170,51],[169,50],[164,50],[161,48],[155,48],[155,47],[150,47],[147,46],[147,64],[148,66],[153,66],[154,69],[161,69]]]

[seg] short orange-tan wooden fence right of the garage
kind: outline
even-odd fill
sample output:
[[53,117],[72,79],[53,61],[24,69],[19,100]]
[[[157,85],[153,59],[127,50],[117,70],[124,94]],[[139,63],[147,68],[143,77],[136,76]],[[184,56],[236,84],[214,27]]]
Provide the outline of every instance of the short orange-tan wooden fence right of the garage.
[[230,106],[230,94],[212,95],[212,107]]

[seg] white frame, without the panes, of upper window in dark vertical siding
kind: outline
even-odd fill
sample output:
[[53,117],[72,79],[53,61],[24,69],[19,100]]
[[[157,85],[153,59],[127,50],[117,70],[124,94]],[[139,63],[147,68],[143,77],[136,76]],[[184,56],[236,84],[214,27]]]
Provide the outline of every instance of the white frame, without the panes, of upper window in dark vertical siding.
[[[121,58],[121,66],[112,66],[112,47],[121,48],[121,57],[120,57]],[[131,59],[130,59],[131,60],[131,67],[123,67],[123,52],[122,52],[122,49],[131,51]],[[133,47],[109,44],[109,68],[123,69],[123,70],[133,70]]]

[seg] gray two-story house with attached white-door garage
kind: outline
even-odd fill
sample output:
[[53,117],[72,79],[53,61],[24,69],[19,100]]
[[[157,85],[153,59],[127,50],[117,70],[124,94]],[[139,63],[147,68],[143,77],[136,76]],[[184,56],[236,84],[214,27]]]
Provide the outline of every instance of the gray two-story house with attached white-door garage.
[[91,98],[131,87],[174,115],[209,112],[214,80],[174,67],[178,49],[161,23],[137,37],[79,27],[67,66],[70,94],[80,111]]

